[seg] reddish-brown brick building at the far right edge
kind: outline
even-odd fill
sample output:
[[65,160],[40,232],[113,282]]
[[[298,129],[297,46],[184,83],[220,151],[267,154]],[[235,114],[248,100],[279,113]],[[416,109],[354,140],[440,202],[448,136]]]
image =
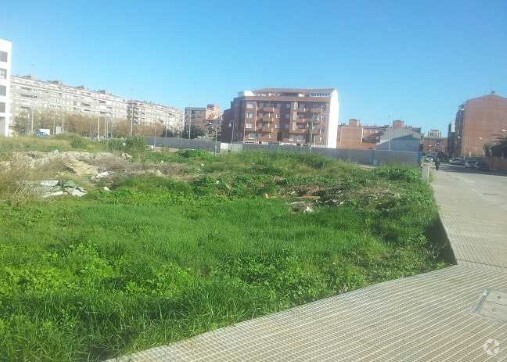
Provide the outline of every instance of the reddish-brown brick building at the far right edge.
[[495,92],[462,104],[449,125],[450,156],[484,156],[484,145],[507,136],[507,98]]

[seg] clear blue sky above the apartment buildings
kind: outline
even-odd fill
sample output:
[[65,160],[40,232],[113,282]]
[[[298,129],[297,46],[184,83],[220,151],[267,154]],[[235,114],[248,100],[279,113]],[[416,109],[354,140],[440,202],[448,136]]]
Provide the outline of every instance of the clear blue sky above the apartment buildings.
[[507,96],[507,1],[4,1],[13,72],[162,104],[333,87],[340,122],[444,133],[466,99]]

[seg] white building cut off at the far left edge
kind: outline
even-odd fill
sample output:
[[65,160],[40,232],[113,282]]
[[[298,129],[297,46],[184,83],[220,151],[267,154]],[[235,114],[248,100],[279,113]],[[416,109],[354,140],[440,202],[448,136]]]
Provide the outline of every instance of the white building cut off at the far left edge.
[[0,39],[0,136],[10,136],[11,131],[11,58],[12,43]]

